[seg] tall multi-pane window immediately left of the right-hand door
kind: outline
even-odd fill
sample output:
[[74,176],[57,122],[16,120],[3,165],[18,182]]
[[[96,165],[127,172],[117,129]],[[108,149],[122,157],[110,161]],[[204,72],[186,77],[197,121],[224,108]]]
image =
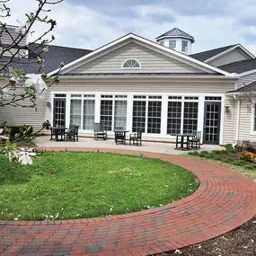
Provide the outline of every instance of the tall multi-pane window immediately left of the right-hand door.
[[183,133],[198,130],[199,102],[184,103]]

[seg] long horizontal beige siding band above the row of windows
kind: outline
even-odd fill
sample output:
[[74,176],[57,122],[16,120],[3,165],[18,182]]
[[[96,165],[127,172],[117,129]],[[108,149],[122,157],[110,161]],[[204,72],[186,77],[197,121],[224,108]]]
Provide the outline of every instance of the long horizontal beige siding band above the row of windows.
[[[186,95],[186,93],[225,93],[227,91],[234,90],[234,82],[229,84],[224,84],[222,81],[214,80],[198,80],[190,81],[178,80],[172,81],[173,79],[131,79],[118,80],[118,79],[87,79],[82,80],[70,80],[70,81],[60,81],[59,84],[52,86],[49,89],[50,92],[84,92],[84,93],[181,93],[181,95]],[[46,110],[46,115],[44,119],[50,119],[50,110]]]

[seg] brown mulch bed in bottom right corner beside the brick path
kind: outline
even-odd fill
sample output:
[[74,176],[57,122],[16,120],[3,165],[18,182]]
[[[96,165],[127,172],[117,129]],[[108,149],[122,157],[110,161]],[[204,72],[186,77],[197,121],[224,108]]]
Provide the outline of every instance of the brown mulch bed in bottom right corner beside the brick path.
[[162,256],[255,256],[256,255],[256,216],[249,222],[226,234],[206,242],[194,244],[176,252]]

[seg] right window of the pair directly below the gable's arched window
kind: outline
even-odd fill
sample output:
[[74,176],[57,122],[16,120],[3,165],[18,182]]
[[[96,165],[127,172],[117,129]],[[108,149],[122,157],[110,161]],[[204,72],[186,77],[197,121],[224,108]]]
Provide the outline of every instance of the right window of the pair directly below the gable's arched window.
[[162,102],[148,102],[147,108],[147,133],[161,133]]

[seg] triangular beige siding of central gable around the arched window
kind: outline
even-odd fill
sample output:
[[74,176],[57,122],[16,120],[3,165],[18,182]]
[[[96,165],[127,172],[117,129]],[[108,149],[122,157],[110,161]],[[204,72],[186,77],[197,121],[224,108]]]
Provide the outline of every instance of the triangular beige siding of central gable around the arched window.
[[[123,69],[122,64],[129,58],[136,58],[141,65],[137,69]],[[119,49],[114,49],[102,57],[75,68],[69,73],[140,73],[140,72],[173,72],[205,73],[194,66],[189,66],[172,57],[167,57],[135,42],[130,42]]]

